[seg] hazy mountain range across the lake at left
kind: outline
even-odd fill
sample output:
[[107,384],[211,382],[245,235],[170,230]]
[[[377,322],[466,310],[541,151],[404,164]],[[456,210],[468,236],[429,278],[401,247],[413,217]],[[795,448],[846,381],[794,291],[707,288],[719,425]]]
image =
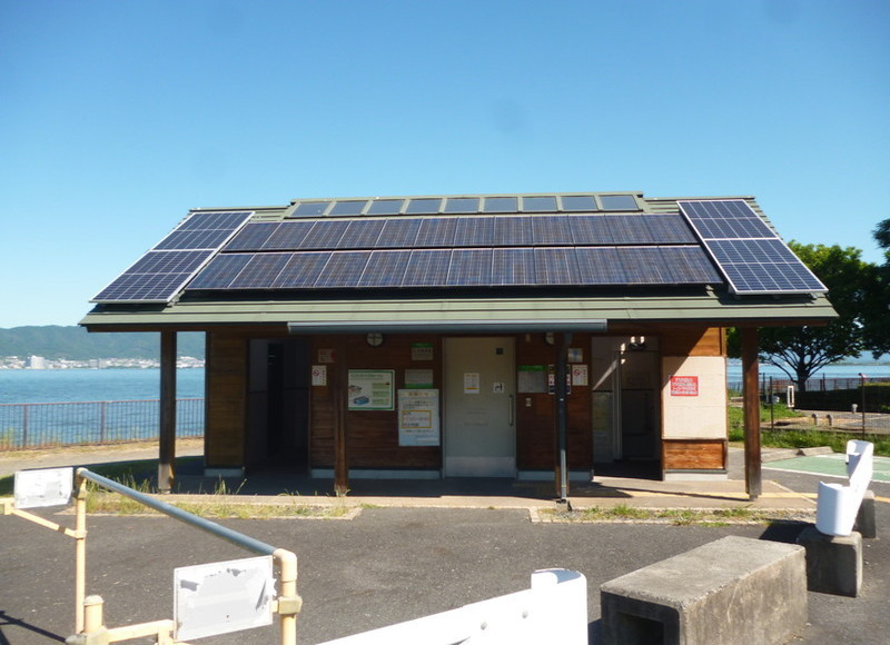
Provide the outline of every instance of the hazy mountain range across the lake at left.
[[[181,333],[177,354],[204,358],[204,334]],[[0,356],[49,359],[160,358],[160,335],[152,333],[89,334],[83,327],[46,326],[0,329]]]

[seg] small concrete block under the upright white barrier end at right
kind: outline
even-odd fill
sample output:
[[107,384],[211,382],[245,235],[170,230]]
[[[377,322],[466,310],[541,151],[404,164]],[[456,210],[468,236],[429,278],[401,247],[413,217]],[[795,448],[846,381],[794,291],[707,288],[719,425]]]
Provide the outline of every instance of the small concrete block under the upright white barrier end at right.
[[859,595],[862,587],[862,535],[825,535],[809,526],[798,536],[807,549],[807,588],[835,596]]

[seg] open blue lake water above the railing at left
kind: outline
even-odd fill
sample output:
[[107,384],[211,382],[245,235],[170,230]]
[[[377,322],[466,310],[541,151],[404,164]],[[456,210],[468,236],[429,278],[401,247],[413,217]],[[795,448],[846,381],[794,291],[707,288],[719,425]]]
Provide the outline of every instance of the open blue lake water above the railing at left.
[[[204,397],[204,369],[176,371],[177,398]],[[160,369],[0,369],[0,404],[160,398]]]

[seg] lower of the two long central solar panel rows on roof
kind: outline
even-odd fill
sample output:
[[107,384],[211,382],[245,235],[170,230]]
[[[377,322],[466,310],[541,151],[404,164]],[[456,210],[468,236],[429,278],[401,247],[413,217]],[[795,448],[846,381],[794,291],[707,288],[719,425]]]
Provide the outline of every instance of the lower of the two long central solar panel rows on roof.
[[220,254],[188,289],[709,285],[698,246],[503,247]]

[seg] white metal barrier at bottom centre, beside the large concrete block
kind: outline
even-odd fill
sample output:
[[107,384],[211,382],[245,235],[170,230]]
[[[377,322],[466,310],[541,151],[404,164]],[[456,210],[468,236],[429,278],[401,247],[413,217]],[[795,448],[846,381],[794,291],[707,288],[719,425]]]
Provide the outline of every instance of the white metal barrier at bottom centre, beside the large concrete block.
[[531,588],[322,645],[587,645],[587,580],[568,569],[532,574]]

